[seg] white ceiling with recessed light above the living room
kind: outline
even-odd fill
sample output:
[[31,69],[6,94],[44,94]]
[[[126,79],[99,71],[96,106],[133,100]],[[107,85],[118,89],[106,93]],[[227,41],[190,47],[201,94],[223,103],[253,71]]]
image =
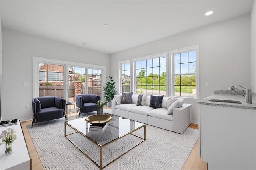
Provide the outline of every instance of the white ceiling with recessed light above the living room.
[[[0,0],[0,12],[2,27],[112,54],[250,13],[252,3],[252,0]],[[214,14],[205,16],[208,10],[214,10]],[[105,23],[109,27],[103,27]]]

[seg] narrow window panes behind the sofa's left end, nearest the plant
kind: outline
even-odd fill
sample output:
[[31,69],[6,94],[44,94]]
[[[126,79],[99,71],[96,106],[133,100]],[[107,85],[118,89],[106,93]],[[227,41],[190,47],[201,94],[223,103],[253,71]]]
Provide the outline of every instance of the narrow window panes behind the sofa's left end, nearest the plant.
[[122,92],[130,92],[130,63],[122,64]]

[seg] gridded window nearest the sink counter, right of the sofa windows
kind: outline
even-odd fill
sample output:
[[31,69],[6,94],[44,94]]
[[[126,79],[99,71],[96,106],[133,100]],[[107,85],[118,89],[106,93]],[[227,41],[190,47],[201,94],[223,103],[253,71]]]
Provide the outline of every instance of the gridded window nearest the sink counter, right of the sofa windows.
[[171,51],[172,56],[172,92],[174,96],[196,98],[199,90],[197,87],[198,45],[181,50]]

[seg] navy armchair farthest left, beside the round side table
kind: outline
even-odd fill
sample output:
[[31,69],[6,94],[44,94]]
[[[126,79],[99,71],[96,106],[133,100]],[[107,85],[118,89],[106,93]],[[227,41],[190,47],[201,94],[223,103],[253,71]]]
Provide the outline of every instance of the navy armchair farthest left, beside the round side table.
[[66,118],[66,100],[57,96],[43,96],[32,99],[33,123]]

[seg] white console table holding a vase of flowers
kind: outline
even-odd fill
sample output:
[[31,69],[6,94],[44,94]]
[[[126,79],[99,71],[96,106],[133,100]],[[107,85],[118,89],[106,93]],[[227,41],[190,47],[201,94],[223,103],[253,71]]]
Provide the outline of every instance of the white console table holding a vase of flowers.
[[[0,133],[13,127],[17,139],[12,143],[12,154],[4,156],[4,145],[0,146],[0,170],[31,170],[31,158],[18,120],[17,125],[0,127]],[[1,141],[2,142],[2,141]]]

